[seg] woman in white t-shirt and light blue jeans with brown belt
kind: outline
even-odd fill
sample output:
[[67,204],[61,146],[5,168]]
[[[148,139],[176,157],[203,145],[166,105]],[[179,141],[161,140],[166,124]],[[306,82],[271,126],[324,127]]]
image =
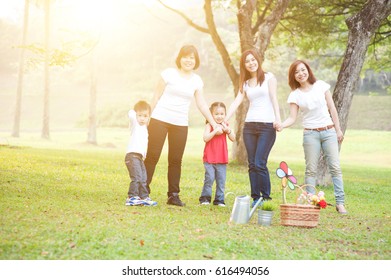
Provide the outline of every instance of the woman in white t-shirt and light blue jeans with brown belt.
[[334,184],[336,209],[339,213],[346,214],[338,148],[338,142],[342,143],[344,137],[330,93],[330,85],[316,80],[310,66],[302,60],[291,64],[288,76],[289,86],[292,89],[288,97],[290,115],[282,123],[279,131],[296,121],[300,109],[304,127],[305,183],[316,185],[317,166],[322,150]]

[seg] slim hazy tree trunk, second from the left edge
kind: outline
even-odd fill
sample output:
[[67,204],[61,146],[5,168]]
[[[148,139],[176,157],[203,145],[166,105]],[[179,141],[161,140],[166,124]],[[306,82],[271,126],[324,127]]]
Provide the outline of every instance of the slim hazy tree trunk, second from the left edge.
[[43,125],[41,137],[50,139],[49,118],[49,39],[50,39],[50,0],[45,0],[45,63],[44,63],[44,101],[43,101]]

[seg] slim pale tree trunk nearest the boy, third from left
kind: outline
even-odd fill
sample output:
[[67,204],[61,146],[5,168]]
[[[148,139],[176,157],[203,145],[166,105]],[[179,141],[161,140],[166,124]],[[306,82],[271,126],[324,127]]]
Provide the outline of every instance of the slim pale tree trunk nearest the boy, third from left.
[[87,142],[97,144],[96,141],[96,61],[95,51],[91,53],[91,84],[90,84],[90,114],[88,117],[88,137]]

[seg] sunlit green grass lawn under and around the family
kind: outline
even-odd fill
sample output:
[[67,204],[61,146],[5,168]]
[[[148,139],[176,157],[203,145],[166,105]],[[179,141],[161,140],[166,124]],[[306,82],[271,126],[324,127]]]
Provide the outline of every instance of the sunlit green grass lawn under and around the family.
[[[318,227],[229,223],[236,195],[249,194],[247,168],[229,164],[227,207],[200,206],[202,129],[191,128],[183,161],[181,198],[166,204],[167,161],[152,184],[157,207],[126,207],[126,130],[100,130],[99,146],[85,133],[0,134],[0,259],[2,260],[380,260],[391,259],[391,132],[348,131],[341,150],[346,206],[322,209]],[[274,171],[288,162],[299,182],[301,131],[278,135],[270,156],[273,203],[281,203]],[[322,188],[334,203],[332,187]],[[293,199],[294,193],[289,194]]]

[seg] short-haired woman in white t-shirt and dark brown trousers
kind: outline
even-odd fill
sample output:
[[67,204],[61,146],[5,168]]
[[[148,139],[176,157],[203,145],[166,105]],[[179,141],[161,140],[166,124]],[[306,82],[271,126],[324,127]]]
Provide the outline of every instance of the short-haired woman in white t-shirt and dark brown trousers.
[[151,107],[148,125],[148,150],[145,158],[147,188],[159,161],[164,142],[168,139],[168,200],[167,204],[184,206],[179,198],[182,157],[186,146],[189,107],[193,97],[200,112],[213,127],[217,127],[203,96],[203,81],[194,70],[200,65],[197,49],[183,46],[176,58],[176,68],[161,73]]

